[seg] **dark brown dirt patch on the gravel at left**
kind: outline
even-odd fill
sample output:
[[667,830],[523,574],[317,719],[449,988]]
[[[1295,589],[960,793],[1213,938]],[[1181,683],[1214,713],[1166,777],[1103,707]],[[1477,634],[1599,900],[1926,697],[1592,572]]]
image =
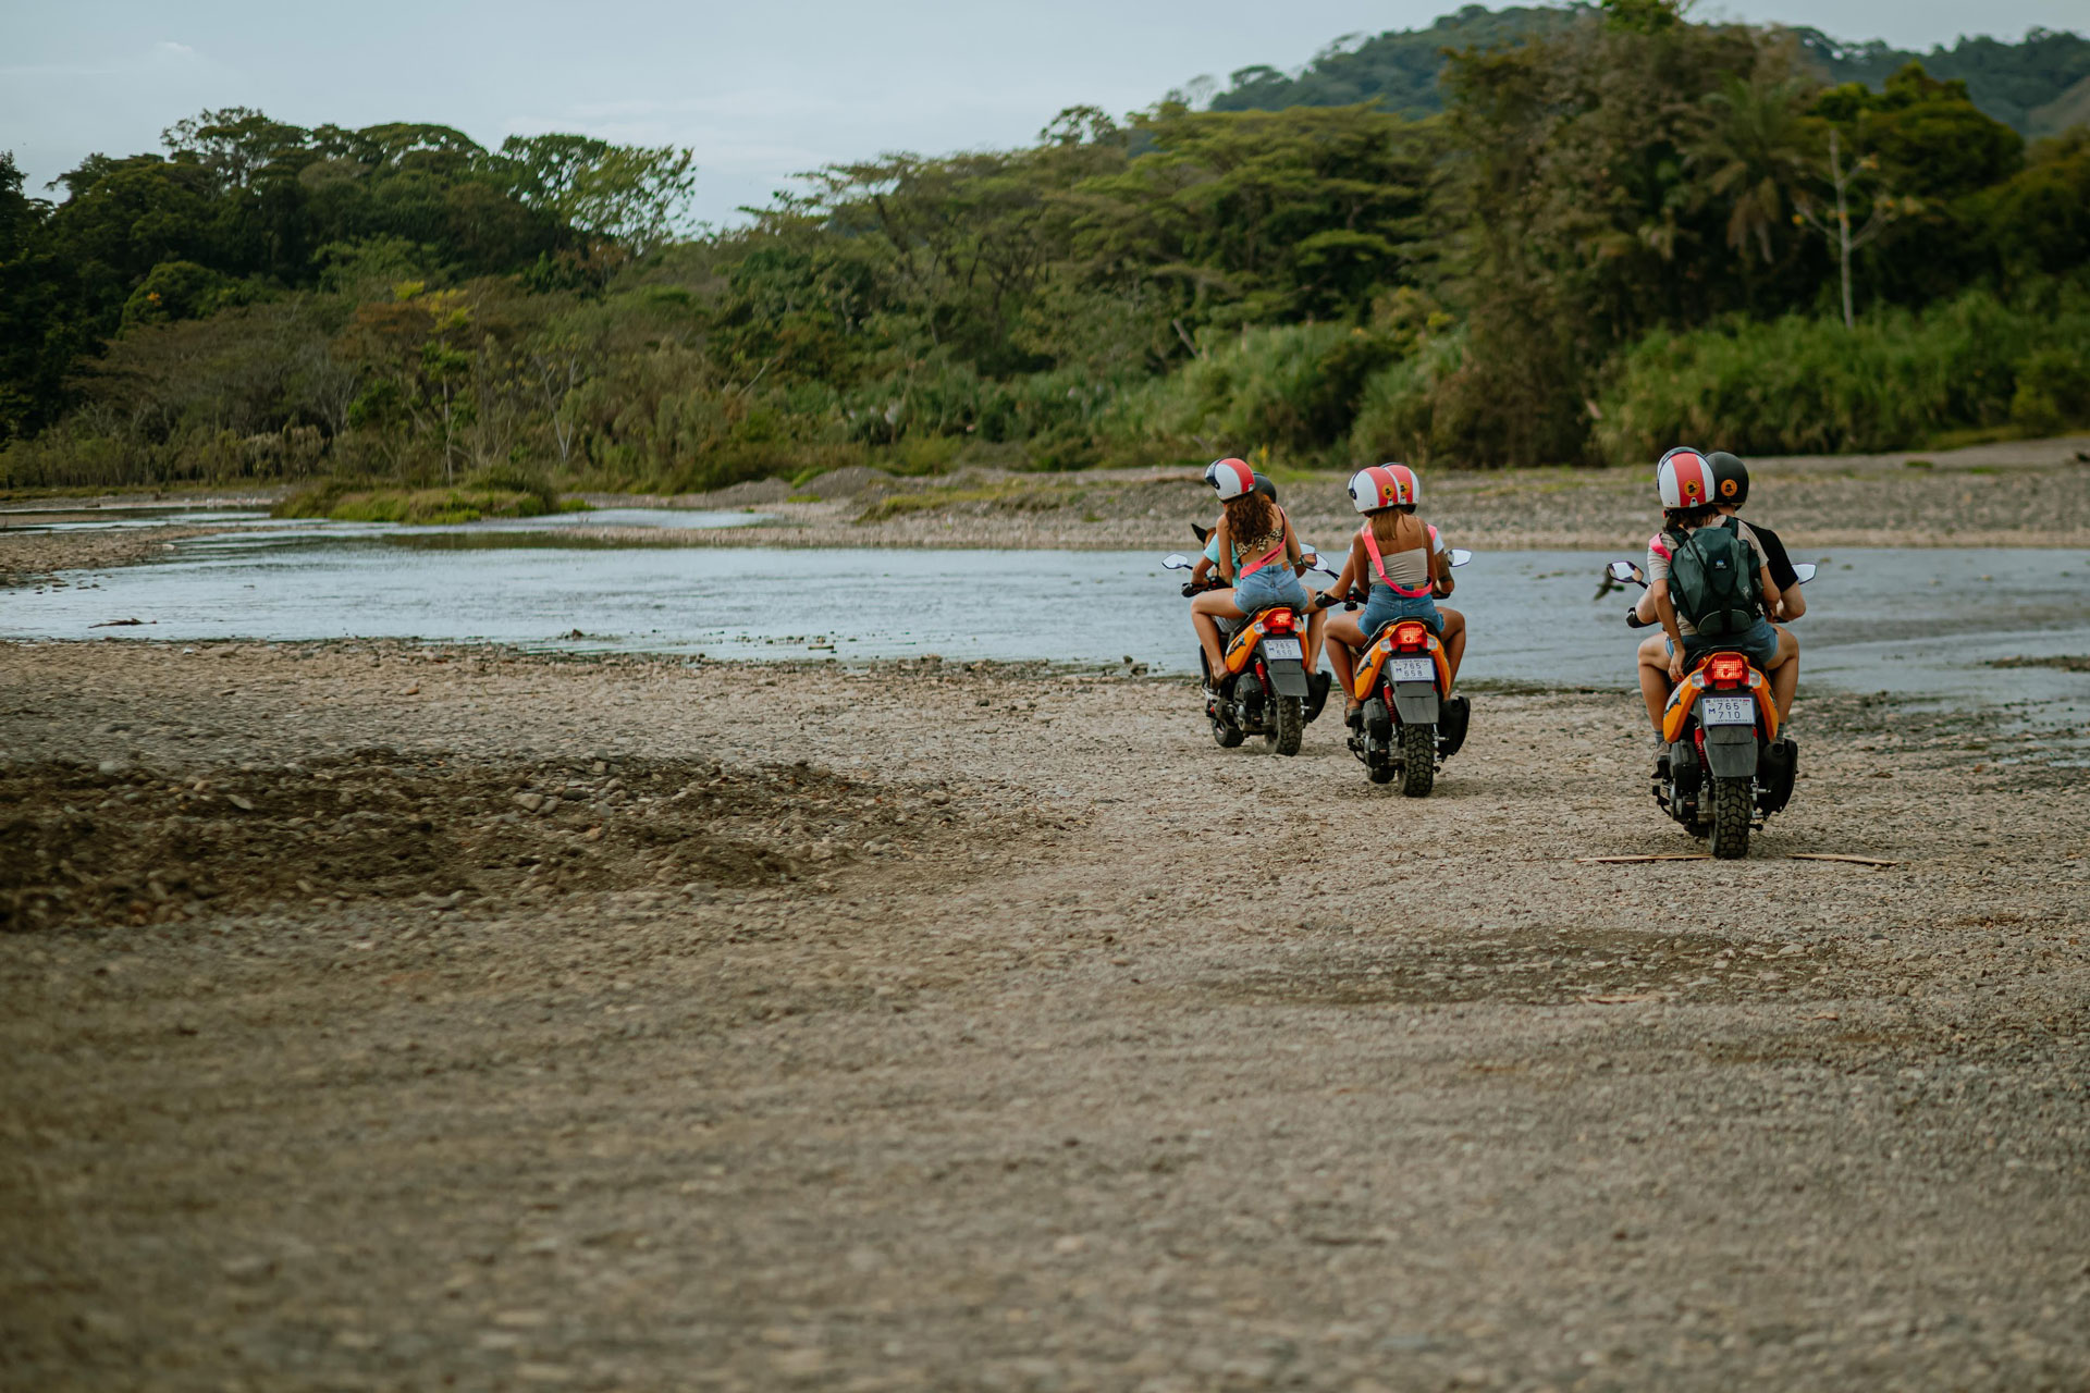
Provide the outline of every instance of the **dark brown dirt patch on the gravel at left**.
[[[955,814],[809,766],[489,766],[364,750],[171,779],[0,769],[0,931],[167,923],[259,900],[788,881]],[[915,817],[907,804],[915,802]],[[901,831],[905,829],[905,831]]]

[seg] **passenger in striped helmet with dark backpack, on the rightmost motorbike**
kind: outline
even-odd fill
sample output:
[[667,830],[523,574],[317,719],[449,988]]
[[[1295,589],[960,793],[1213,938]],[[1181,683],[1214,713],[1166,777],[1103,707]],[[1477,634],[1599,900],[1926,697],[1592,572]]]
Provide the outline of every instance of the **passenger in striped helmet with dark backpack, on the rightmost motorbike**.
[[[1783,591],[1770,576],[1764,545],[1747,522],[1722,518],[1716,501],[1718,478],[1699,451],[1687,447],[1668,451],[1655,466],[1655,487],[1662,493],[1662,530],[1647,541],[1647,595],[1643,604],[1651,606],[1653,618],[1662,622],[1662,637],[1641,645],[1641,698],[1647,702],[1647,718],[1653,721],[1659,735],[1672,685],[1680,683],[1691,664],[1714,647],[1745,654],[1770,679],[1772,698],[1783,716],[1791,695],[1779,698],[1781,672],[1797,656],[1791,635],[1781,639],[1770,620],[1758,614],[1743,633],[1708,639],[1676,612],[1670,599],[1670,570],[1676,551],[1689,543],[1691,533],[1703,526],[1726,526],[1733,528],[1754,566],[1762,608],[1776,614]],[[1791,693],[1789,681],[1783,683],[1783,691]]]

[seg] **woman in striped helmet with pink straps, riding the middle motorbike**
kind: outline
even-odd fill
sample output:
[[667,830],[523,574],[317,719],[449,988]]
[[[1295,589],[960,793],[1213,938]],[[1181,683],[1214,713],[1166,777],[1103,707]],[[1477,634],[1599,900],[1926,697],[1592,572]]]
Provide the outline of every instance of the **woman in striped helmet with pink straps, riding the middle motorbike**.
[[1438,608],[1450,595],[1450,551],[1434,526],[1415,514],[1421,482],[1404,464],[1379,464],[1350,476],[1350,503],[1365,514],[1350,539],[1336,587],[1323,591],[1317,608],[1340,604],[1352,587],[1369,585],[1363,614],[1336,614],[1327,624],[1327,658],[1342,683],[1344,721],[1356,721],[1356,654],[1396,618],[1419,618],[1442,639],[1444,666],[1459,679],[1465,654],[1465,616]]

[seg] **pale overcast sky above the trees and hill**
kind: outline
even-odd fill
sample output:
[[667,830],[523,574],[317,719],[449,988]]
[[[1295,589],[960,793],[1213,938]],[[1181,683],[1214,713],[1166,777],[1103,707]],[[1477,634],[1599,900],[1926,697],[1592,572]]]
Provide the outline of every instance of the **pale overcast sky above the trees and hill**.
[[[1062,107],[1122,113],[1200,73],[1298,67],[1342,33],[1457,0],[0,0],[0,150],[38,188],[159,146],[205,107],[297,125],[435,121],[483,144],[585,132],[696,148],[698,215],[882,150],[1028,140]],[[2084,27],[2084,0],[1708,0],[1904,48]]]

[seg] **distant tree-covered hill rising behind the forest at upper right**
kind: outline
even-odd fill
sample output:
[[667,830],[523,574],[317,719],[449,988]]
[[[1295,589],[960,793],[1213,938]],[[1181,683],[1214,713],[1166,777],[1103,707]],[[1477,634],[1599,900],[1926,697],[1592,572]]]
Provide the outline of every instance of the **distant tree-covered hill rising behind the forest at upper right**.
[[[1212,96],[1212,111],[1277,111],[1283,107],[1346,107],[1377,98],[1388,111],[1425,117],[1444,109],[1438,73],[1446,48],[1515,44],[1553,33],[1590,15],[1590,6],[1467,4],[1425,29],[1388,29],[1375,38],[1336,40],[1296,73],[1244,67]],[[1802,48],[1829,81],[1881,86],[1906,63],[1921,61],[1931,77],[1963,77],[1975,107],[2025,136],[2050,136],[2090,121],[2090,40],[2080,33],[2031,29],[2017,44],[1963,38],[1952,48],[1912,52],[1881,40],[1845,44],[1820,29],[1795,29]]]

